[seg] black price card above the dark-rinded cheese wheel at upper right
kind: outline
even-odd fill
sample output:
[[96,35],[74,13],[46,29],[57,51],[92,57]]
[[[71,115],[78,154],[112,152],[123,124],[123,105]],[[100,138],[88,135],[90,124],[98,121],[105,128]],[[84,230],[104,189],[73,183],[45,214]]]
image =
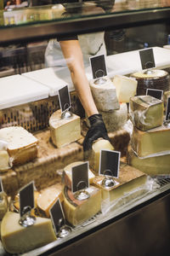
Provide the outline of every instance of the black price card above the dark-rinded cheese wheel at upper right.
[[142,69],[156,67],[152,48],[139,50],[139,55],[140,55]]

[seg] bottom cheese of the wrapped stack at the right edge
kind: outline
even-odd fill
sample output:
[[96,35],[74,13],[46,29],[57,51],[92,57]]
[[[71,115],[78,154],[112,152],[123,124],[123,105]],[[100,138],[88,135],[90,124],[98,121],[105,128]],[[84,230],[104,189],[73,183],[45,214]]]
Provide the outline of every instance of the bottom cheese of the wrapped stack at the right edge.
[[154,157],[139,158],[133,153],[128,152],[128,164],[145,172],[150,176],[169,175],[170,174],[170,154],[164,154]]

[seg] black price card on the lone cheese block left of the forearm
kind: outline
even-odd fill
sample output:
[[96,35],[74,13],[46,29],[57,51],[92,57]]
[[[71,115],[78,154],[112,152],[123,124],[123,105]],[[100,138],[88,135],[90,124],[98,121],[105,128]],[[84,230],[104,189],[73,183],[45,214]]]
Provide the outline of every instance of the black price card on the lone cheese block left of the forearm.
[[59,89],[59,105],[62,113],[71,108],[71,97],[68,90],[68,85],[65,85],[65,87]]

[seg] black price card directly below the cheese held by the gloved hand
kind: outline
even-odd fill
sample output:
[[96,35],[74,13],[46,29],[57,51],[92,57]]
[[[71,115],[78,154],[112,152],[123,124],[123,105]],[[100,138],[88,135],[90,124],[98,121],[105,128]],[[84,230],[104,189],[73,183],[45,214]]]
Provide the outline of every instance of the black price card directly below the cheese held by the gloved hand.
[[119,177],[121,152],[101,150],[99,158],[99,175]]

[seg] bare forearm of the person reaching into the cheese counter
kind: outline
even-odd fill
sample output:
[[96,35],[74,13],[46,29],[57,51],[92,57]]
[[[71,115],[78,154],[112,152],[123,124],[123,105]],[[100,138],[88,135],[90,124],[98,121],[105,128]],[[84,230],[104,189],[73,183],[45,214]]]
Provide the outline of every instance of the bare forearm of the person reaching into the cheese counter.
[[61,41],[61,49],[71,72],[71,79],[88,116],[99,113],[85,74],[82,51],[77,40]]

